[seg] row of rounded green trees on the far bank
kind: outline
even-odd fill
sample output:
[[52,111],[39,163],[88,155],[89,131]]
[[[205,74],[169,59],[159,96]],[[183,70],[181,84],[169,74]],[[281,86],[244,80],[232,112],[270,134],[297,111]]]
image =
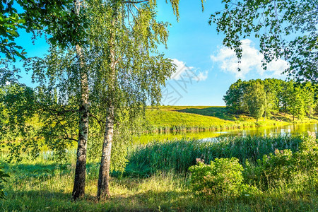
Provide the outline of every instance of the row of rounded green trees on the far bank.
[[307,81],[283,81],[275,78],[264,80],[237,80],[232,83],[223,100],[233,114],[248,113],[261,119],[278,112],[303,119],[318,113],[318,86]]

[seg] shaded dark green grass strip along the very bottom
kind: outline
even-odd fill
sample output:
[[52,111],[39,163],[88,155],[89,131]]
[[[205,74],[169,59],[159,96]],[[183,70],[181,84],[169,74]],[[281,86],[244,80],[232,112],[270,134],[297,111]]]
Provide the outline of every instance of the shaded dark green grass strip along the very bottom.
[[315,211],[314,202],[288,196],[205,198],[190,192],[146,191],[117,194],[105,201],[86,195],[78,201],[71,194],[49,191],[10,192],[0,201],[1,211]]

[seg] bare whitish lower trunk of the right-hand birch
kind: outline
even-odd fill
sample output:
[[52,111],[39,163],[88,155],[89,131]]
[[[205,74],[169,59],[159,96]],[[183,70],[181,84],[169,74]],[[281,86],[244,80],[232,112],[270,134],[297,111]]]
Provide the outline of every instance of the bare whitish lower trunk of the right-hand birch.
[[110,197],[110,158],[114,135],[114,108],[110,107],[109,110],[106,118],[104,143],[102,143],[102,158],[98,176],[98,200]]

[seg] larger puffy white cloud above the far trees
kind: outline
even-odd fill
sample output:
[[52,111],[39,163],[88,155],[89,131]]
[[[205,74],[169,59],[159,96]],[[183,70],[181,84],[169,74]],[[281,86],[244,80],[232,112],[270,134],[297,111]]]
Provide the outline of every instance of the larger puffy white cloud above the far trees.
[[[250,71],[257,71],[264,77],[278,77],[288,68],[288,63],[283,59],[271,61],[267,70],[261,67],[264,55],[254,47],[252,40],[242,40],[242,59],[240,64],[235,52],[228,47],[218,47],[216,55],[211,55],[212,61],[216,62],[222,71],[235,74],[236,78],[245,78]],[[240,68],[241,71],[237,71]]]

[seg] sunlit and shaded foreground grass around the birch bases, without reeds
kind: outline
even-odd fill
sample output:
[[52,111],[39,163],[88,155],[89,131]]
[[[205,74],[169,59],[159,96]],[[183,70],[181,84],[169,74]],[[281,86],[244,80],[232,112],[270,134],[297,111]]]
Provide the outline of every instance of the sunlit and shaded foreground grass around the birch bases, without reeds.
[[[20,171],[26,172],[21,167]],[[71,201],[73,168],[45,180],[28,177],[28,181],[17,182],[13,176],[0,211],[317,211],[317,196],[312,191],[302,194],[302,188],[298,192],[281,188],[261,196],[206,199],[189,189],[189,177],[163,172],[148,178],[112,178],[112,198],[98,202],[97,179],[90,175],[88,172],[85,199],[76,202]]]

